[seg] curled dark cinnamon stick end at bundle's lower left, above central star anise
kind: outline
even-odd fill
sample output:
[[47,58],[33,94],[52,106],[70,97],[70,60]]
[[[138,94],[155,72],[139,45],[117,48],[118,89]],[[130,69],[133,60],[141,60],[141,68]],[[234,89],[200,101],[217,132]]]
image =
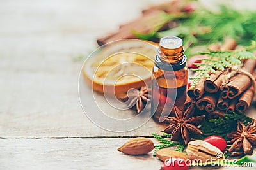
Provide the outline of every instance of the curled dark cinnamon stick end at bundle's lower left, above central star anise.
[[205,110],[208,113],[211,113],[216,108],[216,96],[211,94],[203,96],[201,99],[196,101],[196,107],[199,110]]

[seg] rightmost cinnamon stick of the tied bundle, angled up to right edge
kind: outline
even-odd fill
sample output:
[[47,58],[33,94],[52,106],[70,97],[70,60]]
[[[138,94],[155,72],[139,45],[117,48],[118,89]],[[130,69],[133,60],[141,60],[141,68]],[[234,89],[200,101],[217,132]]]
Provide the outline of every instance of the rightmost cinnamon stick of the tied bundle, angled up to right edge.
[[249,89],[247,89],[242,95],[241,97],[239,97],[238,99],[238,103],[236,104],[236,111],[243,111],[245,112],[246,110],[248,110],[253,96],[254,96],[254,87],[253,85],[250,86]]

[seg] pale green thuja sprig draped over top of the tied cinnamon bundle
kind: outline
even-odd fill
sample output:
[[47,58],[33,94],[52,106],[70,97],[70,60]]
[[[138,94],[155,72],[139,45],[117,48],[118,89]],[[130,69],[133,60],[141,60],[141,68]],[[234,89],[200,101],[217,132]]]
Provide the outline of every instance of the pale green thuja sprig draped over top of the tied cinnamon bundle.
[[193,80],[191,83],[190,89],[193,89],[197,84],[200,78],[205,76],[209,78],[210,73],[215,73],[216,70],[225,70],[228,67],[241,64],[243,59],[256,59],[250,50],[255,48],[256,42],[252,41],[252,45],[247,46],[243,50],[234,50],[234,51],[209,51],[209,52],[200,52],[202,55],[207,55],[201,63],[194,63],[196,66],[200,66],[198,69],[191,69],[198,74],[198,76],[190,78]]

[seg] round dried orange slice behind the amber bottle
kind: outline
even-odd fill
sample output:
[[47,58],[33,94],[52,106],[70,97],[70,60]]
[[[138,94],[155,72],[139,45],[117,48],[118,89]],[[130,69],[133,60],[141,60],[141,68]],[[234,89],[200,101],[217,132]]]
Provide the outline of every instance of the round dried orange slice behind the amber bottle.
[[94,90],[123,96],[151,81],[156,46],[136,39],[108,43],[84,62],[84,78]]

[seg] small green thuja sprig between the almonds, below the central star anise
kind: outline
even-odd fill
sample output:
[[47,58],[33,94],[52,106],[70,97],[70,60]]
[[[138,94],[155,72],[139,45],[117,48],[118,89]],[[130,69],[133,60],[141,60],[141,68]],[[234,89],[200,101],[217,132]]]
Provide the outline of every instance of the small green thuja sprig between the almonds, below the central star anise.
[[[186,145],[182,142],[178,142],[178,141],[169,141],[168,139],[163,138],[162,136],[160,136],[159,134],[152,134],[154,136],[154,138],[156,138],[160,143],[162,143],[162,145],[155,145],[155,149],[154,149],[154,153],[153,155],[156,156],[156,151],[162,148],[167,148],[167,147],[172,147],[172,146],[177,146],[177,148],[175,150],[182,152],[184,150],[184,148],[186,147]],[[163,136],[166,136],[168,138],[170,138],[170,134],[163,134]]]

